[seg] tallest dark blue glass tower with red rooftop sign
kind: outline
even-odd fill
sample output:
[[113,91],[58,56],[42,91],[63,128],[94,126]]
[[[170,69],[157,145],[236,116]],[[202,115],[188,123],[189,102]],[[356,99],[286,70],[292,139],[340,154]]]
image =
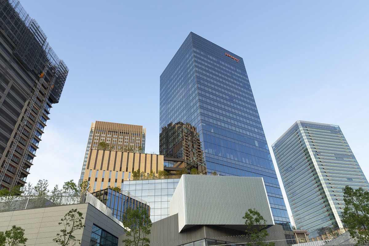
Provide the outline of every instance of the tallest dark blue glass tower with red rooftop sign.
[[192,32],[160,76],[160,131],[177,122],[199,133],[207,173],[263,177],[274,220],[289,229],[244,61]]

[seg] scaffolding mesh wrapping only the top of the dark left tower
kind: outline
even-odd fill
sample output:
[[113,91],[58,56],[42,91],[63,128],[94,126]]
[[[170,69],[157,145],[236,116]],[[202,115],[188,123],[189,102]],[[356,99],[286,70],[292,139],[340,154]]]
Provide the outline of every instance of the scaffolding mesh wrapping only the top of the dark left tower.
[[0,10],[3,12],[0,12],[0,27],[13,42],[13,53],[25,68],[33,71],[36,76],[44,70],[46,64],[58,69],[58,77],[51,91],[53,103],[58,103],[69,72],[68,67],[56,55],[46,41],[44,31],[24,10],[20,1],[0,0]]

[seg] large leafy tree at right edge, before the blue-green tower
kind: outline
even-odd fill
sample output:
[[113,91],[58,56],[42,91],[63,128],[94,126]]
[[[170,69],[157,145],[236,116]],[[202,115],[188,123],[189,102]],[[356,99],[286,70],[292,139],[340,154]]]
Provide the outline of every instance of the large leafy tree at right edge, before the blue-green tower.
[[369,243],[369,192],[362,187],[354,190],[350,186],[344,189],[345,208],[341,220],[350,236],[358,240],[356,245]]

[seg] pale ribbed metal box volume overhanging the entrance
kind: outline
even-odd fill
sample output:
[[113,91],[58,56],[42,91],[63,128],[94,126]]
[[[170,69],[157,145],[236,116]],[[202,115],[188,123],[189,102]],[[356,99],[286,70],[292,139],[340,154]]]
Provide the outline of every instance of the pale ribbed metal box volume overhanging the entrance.
[[182,175],[169,207],[170,215],[179,214],[179,231],[193,225],[244,226],[249,208],[274,225],[261,177]]

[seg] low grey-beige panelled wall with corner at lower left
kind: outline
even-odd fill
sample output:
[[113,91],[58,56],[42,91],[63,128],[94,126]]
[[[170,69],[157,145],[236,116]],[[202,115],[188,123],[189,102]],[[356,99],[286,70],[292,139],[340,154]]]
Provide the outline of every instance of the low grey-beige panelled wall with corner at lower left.
[[10,230],[13,225],[21,226],[25,229],[25,237],[28,238],[27,246],[57,246],[52,239],[56,238],[56,233],[63,228],[58,223],[71,209],[82,212],[85,218],[83,222],[86,227],[74,233],[76,239],[82,240],[81,246],[90,245],[93,224],[116,237],[124,233],[120,225],[87,203],[0,212],[0,231]]

